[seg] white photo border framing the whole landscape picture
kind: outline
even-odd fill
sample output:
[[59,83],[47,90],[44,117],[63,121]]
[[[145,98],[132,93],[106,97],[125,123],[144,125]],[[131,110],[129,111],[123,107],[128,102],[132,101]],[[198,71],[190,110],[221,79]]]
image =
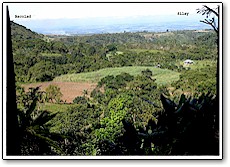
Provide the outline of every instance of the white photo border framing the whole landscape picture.
[[[6,6],[10,3],[2,3],[2,159],[4,160],[222,160],[223,159],[223,3],[221,2],[126,2],[126,3],[216,3],[220,5],[219,11],[219,113],[220,113],[220,135],[218,156],[8,156],[6,155]],[[37,2],[25,2],[37,3]],[[68,3],[68,2],[38,2],[38,3]],[[90,2],[71,2],[90,3]],[[106,1],[93,3],[111,3]],[[121,2],[115,2],[121,3]],[[123,3],[123,2],[122,2]]]

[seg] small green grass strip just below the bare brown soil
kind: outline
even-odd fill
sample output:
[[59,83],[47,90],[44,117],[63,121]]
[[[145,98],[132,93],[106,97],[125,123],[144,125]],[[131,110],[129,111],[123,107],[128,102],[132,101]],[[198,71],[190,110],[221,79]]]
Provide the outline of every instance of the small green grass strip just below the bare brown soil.
[[75,106],[77,104],[56,104],[56,103],[39,103],[38,107],[40,110],[47,110],[52,113],[67,111],[69,107]]

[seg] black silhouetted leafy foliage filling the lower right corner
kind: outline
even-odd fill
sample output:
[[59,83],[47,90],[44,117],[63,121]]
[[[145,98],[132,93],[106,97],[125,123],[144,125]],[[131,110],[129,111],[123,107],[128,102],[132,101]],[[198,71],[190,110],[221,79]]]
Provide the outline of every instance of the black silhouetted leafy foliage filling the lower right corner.
[[[164,107],[145,129],[123,120],[125,132],[113,144],[124,155],[219,155],[219,112],[216,98],[202,95],[180,104],[161,95]],[[107,154],[109,154],[107,152]]]

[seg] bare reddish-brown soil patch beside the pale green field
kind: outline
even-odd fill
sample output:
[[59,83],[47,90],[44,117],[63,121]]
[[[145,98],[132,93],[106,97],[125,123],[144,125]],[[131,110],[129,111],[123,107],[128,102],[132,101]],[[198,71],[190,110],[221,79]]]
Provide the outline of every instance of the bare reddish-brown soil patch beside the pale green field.
[[96,87],[95,83],[84,83],[84,82],[43,82],[43,83],[33,83],[23,85],[25,90],[28,90],[30,87],[41,86],[40,89],[44,91],[49,85],[56,85],[61,89],[63,94],[62,100],[67,103],[72,103],[73,99],[77,96],[82,96],[83,91],[87,90],[88,94]]

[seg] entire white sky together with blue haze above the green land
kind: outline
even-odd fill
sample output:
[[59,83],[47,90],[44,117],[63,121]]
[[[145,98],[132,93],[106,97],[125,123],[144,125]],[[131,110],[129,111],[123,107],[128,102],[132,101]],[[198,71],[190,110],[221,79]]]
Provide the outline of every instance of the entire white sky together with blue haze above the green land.
[[[216,7],[215,3],[206,3]],[[42,34],[95,34],[210,28],[202,3],[10,3],[11,20]],[[50,10],[52,9],[52,10]],[[62,11],[62,12],[60,12]],[[179,12],[188,15],[178,15]],[[17,18],[16,16],[30,16]]]

